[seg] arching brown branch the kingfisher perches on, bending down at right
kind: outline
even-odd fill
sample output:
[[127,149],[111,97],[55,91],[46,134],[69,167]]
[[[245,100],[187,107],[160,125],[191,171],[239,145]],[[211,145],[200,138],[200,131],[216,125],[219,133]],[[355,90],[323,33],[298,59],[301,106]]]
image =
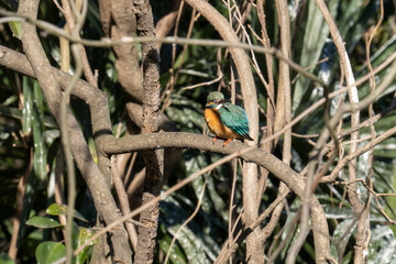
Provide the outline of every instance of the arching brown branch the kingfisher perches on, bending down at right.
[[[113,155],[142,150],[188,147],[220,154],[240,153],[239,157],[243,158],[245,162],[255,163],[268,169],[275,177],[284,182],[302,200],[302,202],[306,200],[306,179],[299,176],[280,160],[271,153],[238,141],[230,142],[227,146],[222,146],[222,141],[218,140],[213,144],[212,138],[202,134],[162,132],[109,140],[103,142],[106,147],[102,148],[102,151],[108,155]],[[315,195],[309,197],[308,202],[311,208],[316,251],[320,252],[320,255],[323,257],[329,256],[329,231],[327,228],[323,228],[327,227],[324,211]],[[320,260],[318,260],[318,262],[320,263]]]

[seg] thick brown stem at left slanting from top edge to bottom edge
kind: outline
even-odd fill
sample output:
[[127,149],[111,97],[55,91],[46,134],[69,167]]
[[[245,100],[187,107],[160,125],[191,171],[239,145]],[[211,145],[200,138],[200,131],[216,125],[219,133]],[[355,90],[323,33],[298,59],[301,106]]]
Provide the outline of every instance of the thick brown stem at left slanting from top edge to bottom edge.
[[[23,15],[30,16],[31,19],[35,19],[37,15],[37,8],[38,0],[21,1],[19,12]],[[51,112],[55,116],[57,123],[61,123],[59,106],[62,94],[59,85],[54,77],[53,68],[50,65],[44,50],[40,43],[38,36],[36,34],[36,28],[31,23],[23,23],[22,44],[29,59],[25,66],[29,68],[29,65],[31,65],[30,70],[32,70],[35,78],[37,78]],[[2,57],[2,59],[7,59],[7,56],[8,54],[6,53],[6,56]],[[82,132],[69,110],[67,111],[66,122],[69,128],[69,136],[73,139],[70,140],[72,153],[91,191],[96,208],[100,216],[103,217],[106,222],[113,222],[120,217],[119,215],[114,213],[117,211],[116,202],[112,199],[110,190],[107,188],[106,183],[90,155]],[[112,235],[112,242],[117,257],[119,260],[125,261],[125,263],[129,263],[129,251],[128,249],[123,249],[124,244],[127,244],[123,243],[124,241],[127,241],[127,237],[121,230],[116,231]]]

